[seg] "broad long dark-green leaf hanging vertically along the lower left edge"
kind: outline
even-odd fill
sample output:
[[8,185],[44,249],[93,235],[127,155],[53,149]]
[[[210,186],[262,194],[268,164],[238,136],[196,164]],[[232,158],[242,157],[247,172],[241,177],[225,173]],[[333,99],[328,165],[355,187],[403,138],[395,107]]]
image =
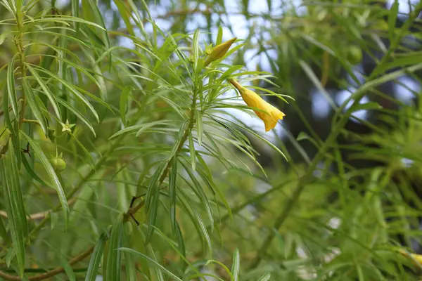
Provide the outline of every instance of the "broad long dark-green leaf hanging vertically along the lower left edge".
[[4,156],[0,169],[13,249],[15,249],[16,258],[18,259],[19,275],[23,277],[25,268],[25,236],[28,233],[28,226],[19,183],[18,162],[13,154],[13,143],[9,143],[9,146],[10,149],[7,155]]

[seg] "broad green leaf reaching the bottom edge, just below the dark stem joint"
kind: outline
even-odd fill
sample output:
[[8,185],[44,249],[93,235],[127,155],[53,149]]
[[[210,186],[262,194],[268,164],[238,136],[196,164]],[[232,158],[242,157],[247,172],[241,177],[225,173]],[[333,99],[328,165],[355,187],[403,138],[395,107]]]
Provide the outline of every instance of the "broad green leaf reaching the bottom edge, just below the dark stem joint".
[[108,244],[107,275],[106,281],[120,280],[121,256],[118,250],[122,246],[123,215],[117,217],[111,229],[110,242]]

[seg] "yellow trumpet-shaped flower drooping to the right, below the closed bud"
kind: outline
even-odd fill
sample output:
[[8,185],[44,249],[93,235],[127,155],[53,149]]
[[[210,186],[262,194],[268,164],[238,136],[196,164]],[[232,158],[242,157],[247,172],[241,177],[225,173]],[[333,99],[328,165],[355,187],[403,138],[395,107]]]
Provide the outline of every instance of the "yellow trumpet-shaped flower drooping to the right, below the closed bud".
[[241,93],[243,100],[248,106],[263,110],[254,110],[254,112],[258,115],[258,117],[260,117],[260,119],[262,119],[262,121],[264,121],[265,131],[274,129],[277,122],[279,122],[279,119],[283,119],[283,117],[286,116],[276,107],[270,105],[265,100],[263,100],[260,96],[258,96],[257,93],[246,89],[245,87],[241,86],[241,84],[238,84],[238,81],[236,81],[235,79],[229,79],[228,81],[236,89],[238,89],[239,93]]

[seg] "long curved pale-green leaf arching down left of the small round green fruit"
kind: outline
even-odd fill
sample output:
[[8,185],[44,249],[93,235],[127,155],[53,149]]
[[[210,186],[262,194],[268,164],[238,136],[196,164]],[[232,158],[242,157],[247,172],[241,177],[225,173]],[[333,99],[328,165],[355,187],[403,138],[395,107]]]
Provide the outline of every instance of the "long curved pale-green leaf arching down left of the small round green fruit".
[[36,143],[34,140],[32,140],[32,138],[30,138],[25,133],[23,133],[23,131],[20,131],[20,133],[22,133],[22,136],[27,140],[28,143],[30,143],[30,147],[34,151],[35,155],[37,155],[37,157],[41,161],[42,166],[44,166],[44,169],[46,169],[46,172],[49,175],[51,183],[53,184],[53,188],[57,192],[58,200],[60,200],[60,204],[63,209],[63,214],[65,216],[65,228],[67,228],[68,222],[69,222],[68,200],[66,200],[65,192],[63,191],[62,185],[58,179],[58,176],[56,175],[56,171],[54,171],[53,167],[50,164],[49,159],[41,150],[38,143]]

